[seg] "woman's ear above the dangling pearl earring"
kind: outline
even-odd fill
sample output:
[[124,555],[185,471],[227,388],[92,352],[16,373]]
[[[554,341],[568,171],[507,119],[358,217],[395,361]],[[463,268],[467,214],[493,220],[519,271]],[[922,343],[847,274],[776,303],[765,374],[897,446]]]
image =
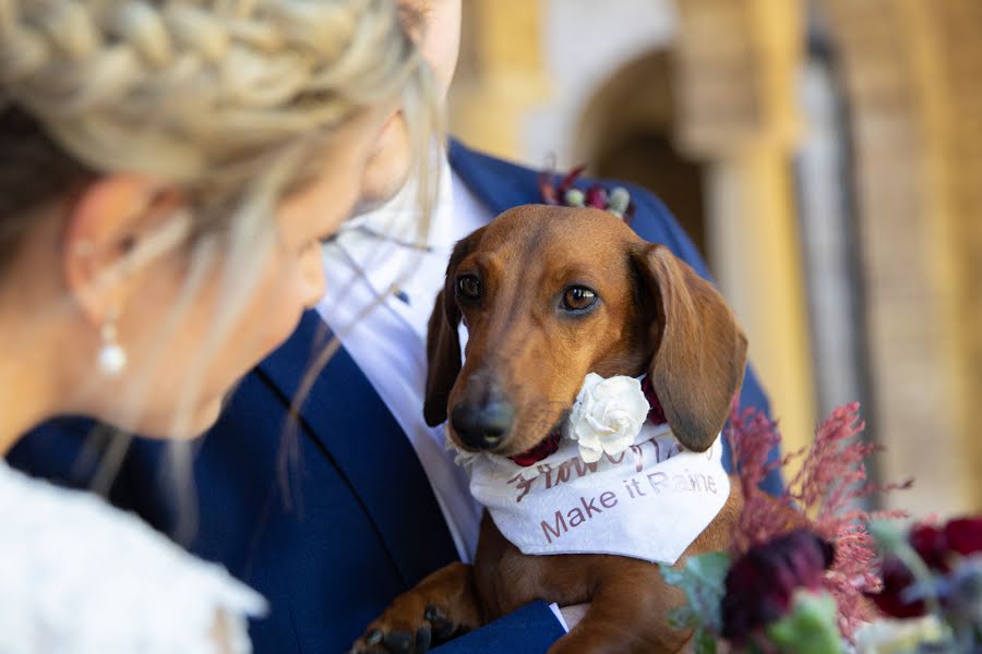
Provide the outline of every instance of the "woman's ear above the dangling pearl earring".
[[[62,268],[72,298],[93,325],[119,311],[134,291],[134,272],[159,254],[160,234],[172,232],[168,249],[187,237],[190,221],[179,230],[176,191],[132,174],[109,174],[87,185],[69,209]],[[176,233],[180,231],[181,233]],[[147,256],[147,255],[151,256]]]

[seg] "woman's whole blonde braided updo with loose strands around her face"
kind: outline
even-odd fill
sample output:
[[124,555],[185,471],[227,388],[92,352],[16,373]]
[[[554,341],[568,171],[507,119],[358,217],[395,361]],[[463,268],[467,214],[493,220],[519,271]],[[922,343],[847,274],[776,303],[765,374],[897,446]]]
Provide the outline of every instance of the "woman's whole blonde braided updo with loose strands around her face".
[[[29,209],[99,173],[180,185],[197,238],[167,327],[224,268],[203,368],[258,283],[276,203],[324,140],[400,98],[422,155],[442,124],[430,89],[394,0],[0,0],[0,150],[16,157],[0,171],[0,256]],[[432,184],[422,193],[426,229]],[[176,431],[194,404],[189,378]]]

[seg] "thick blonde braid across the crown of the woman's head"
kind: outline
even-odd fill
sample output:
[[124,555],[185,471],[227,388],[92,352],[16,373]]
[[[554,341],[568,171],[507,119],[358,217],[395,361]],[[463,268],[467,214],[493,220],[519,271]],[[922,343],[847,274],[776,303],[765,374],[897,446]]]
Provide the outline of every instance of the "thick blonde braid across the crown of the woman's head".
[[0,82],[94,170],[196,181],[392,97],[392,4],[0,0]]

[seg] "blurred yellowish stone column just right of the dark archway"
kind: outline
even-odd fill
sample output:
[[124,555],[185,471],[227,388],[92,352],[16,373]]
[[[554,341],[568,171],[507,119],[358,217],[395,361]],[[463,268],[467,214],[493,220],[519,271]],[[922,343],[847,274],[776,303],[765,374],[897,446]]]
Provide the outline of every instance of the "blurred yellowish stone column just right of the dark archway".
[[802,8],[681,0],[679,144],[709,164],[709,249],[750,338],[786,449],[814,435],[814,390],[790,157]]

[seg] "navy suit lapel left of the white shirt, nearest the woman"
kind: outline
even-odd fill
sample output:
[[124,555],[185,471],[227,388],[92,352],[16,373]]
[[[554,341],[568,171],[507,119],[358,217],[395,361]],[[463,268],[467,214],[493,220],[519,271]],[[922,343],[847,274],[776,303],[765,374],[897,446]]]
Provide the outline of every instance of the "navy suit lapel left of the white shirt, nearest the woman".
[[[308,311],[290,339],[260,364],[260,373],[283,401],[296,396],[314,353],[330,338],[326,324],[316,312]],[[300,420],[347,480],[407,586],[456,560],[453,540],[416,451],[344,348],[318,376]]]

